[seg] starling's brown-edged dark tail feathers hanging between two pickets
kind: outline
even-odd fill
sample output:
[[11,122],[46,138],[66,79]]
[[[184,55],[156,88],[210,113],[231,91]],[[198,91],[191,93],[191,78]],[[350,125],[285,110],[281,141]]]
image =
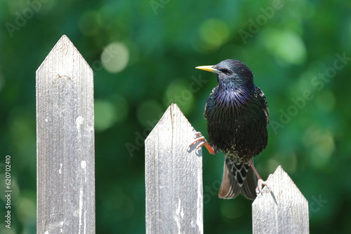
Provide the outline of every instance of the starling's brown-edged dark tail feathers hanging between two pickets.
[[240,193],[245,198],[256,198],[257,181],[249,163],[235,163],[225,158],[223,180],[218,193],[219,198],[236,198]]

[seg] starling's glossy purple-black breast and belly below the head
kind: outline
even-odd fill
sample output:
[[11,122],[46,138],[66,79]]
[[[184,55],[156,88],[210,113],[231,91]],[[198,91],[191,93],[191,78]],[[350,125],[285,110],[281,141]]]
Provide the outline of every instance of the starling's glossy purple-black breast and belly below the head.
[[208,98],[206,112],[209,142],[227,156],[245,161],[265,147],[267,128],[260,117],[262,111],[248,95],[215,92]]

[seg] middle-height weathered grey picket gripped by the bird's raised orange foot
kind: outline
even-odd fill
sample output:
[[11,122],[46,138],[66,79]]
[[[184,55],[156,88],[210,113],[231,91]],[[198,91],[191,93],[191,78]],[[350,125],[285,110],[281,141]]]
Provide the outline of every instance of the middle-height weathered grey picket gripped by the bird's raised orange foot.
[[202,158],[196,131],[171,104],[145,140],[146,233],[204,233]]

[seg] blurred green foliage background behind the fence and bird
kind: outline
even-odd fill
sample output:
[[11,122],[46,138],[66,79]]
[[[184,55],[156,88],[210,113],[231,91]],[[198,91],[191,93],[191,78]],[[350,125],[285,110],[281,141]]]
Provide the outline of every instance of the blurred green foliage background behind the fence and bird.
[[[216,76],[244,62],[270,106],[263,178],[278,165],[309,201],[311,233],[351,233],[351,1],[0,0],[0,216],[36,232],[35,71],[66,34],[94,71],[96,233],[145,233],[144,139],[171,102],[206,136]],[[201,81],[201,82],[200,82]],[[197,85],[194,85],[196,83]],[[251,201],[217,197],[204,151],[204,233],[251,233]]]

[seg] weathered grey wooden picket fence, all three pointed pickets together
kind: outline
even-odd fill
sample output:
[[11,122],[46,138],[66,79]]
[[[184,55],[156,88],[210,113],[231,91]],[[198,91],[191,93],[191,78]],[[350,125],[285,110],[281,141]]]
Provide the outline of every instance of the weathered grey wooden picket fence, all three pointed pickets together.
[[[145,140],[146,233],[204,233],[201,149],[176,104]],[[37,233],[95,233],[93,71],[62,36],[37,70]],[[278,167],[253,233],[309,233],[308,204]]]

